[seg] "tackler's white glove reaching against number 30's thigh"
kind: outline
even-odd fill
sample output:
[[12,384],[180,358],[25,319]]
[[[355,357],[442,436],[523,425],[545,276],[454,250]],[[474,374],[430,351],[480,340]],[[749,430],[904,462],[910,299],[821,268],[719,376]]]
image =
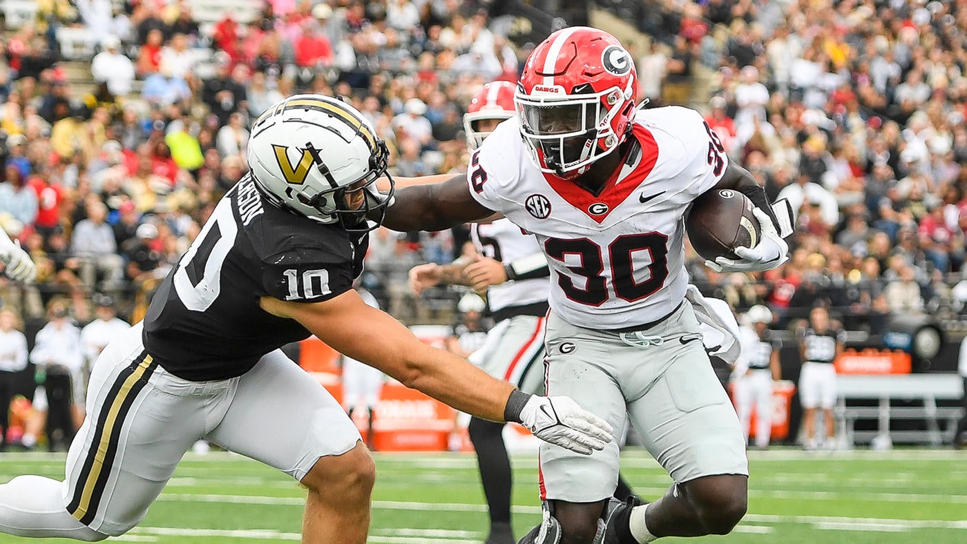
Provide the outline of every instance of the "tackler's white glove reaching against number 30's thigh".
[[607,421],[566,396],[531,396],[520,411],[520,423],[542,441],[583,455],[603,449],[612,440]]

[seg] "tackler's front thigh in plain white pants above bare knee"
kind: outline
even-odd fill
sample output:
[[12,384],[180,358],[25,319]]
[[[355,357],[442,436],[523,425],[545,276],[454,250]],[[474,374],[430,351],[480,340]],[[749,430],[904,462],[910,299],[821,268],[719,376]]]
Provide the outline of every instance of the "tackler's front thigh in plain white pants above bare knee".
[[238,380],[231,406],[206,438],[298,480],[320,457],[361,440],[329,391],[279,350]]

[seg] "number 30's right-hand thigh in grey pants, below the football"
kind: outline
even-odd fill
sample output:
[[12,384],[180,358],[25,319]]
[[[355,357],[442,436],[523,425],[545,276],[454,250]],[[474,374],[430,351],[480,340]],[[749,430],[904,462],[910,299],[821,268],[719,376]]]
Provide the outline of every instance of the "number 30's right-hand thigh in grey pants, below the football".
[[701,342],[676,338],[647,350],[653,349],[650,358],[669,363],[643,396],[629,402],[642,444],[678,482],[747,474],[739,418]]

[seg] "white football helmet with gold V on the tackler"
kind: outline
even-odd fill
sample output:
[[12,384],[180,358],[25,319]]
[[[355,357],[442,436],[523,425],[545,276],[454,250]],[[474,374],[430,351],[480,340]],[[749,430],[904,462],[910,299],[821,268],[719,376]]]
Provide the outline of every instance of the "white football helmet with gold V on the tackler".
[[[255,120],[249,136],[251,176],[271,202],[353,231],[372,230],[382,221],[393,195],[389,157],[386,143],[356,108],[322,95],[278,101]],[[389,194],[376,189],[384,176]]]

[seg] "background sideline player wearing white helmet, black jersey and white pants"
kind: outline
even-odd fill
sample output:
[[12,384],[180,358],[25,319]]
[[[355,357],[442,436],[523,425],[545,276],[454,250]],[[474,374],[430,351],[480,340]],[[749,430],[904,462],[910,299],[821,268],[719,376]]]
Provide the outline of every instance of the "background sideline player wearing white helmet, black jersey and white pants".
[[779,367],[781,344],[769,326],[773,312],[761,304],[748,308],[748,327],[742,333],[742,368],[736,379],[736,408],[748,443],[752,408],[755,408],[755,447],[765,449],[773,428],[773,386],[782,374]]

